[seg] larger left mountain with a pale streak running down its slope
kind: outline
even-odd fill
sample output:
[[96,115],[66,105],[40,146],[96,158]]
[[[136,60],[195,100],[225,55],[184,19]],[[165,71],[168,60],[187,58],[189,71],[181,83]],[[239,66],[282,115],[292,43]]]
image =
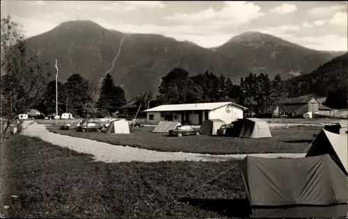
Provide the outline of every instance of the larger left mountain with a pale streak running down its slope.
[[57,58],[59,81],[64,82],[74,72],[89,80],[101,79],[110,72],[129,98],[148,89],[157,92],[161,77],[174,67],[182,67],[193,75],[206,70],[229,77],[245,74],[232,58],[191,42],[163,35],[109,31],[89,21],[60,24],[30,38],[29,45],[41,61],[49,62],[50,79],[54,79]]

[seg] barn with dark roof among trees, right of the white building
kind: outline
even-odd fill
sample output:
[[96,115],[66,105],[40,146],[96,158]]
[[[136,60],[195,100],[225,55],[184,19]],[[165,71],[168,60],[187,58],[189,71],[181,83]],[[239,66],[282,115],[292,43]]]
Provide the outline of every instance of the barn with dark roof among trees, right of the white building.
[[313,96],[288,98],[276,104],[274,115],[290,115],[303,117],[306,113],[312,117],[313,113],[319,112],[319,102]]

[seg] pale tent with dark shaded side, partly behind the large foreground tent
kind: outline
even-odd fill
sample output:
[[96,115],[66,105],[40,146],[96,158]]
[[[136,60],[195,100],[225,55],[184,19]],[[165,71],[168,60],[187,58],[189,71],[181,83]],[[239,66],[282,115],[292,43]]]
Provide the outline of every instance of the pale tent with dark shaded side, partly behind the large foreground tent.
[[348,143],[347,135],[339,135],[322,129],[312,146],[308,150],[306,157],[329,154],[338,167],[347,175],[348,172]]

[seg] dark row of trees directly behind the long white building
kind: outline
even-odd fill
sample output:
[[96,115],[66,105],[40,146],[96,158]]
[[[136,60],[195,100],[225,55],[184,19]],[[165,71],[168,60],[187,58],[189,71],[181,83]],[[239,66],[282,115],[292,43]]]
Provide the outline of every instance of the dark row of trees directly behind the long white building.
[[222,74],[205,72],[189,76],[187,70],[175,68],[162,77],[157,99],[164,104],[232,101],[254,106],[255,113],[264,114],[285,97],[287,92],[280,75],[271,80],[267,74],[249,73],[239,83],[232,83]]

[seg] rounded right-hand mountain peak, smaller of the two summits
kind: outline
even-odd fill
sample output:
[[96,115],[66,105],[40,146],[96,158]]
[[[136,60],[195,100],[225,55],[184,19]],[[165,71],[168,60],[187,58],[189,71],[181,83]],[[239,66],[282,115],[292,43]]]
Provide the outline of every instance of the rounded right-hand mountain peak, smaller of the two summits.
[[226,56],[238,58],[248,71],[280,74],[283,79],[308,74],[333,58],[332,54],[301,47],[273,35],[246,32],[214,48]]

